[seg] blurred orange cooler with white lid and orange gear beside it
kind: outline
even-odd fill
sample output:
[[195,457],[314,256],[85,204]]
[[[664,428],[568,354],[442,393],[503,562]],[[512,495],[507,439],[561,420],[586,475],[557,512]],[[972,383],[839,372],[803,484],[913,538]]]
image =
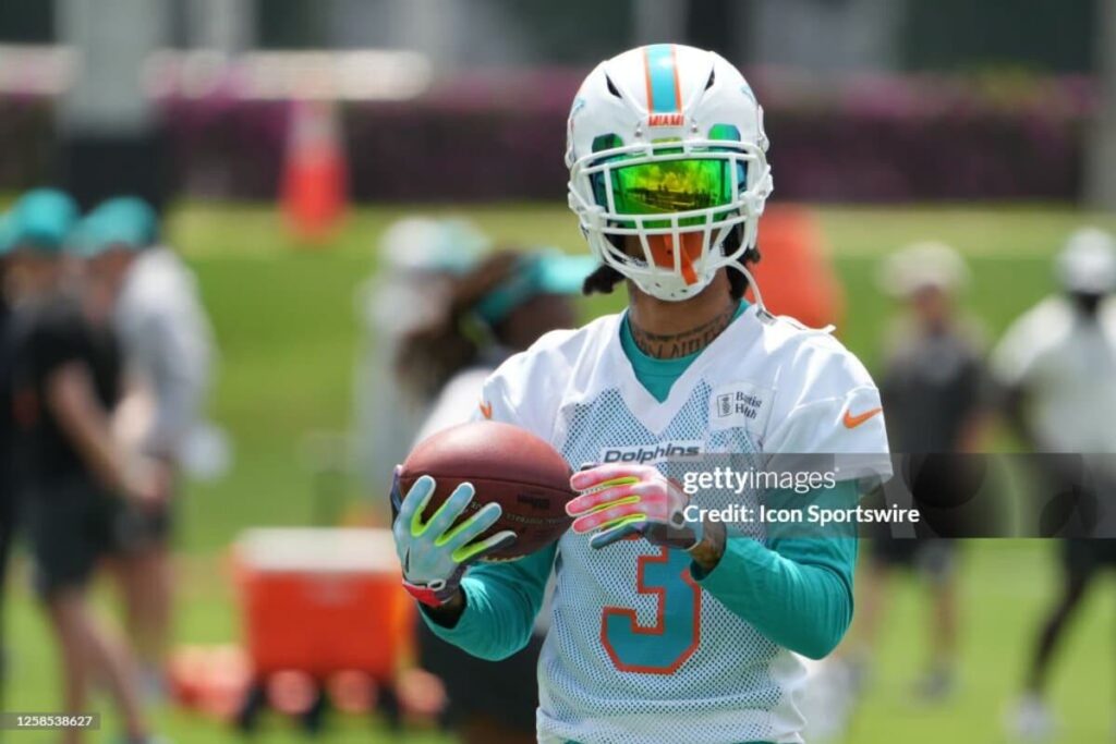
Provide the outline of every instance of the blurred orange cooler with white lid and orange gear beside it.
[[253,529],[233,560],[243,651],[177,650],[179,703],[243,731],[269,707],[319,731],[327,699],[343,712],[378,708],[398,725],[394,686],[413,655],[414,606],[391,532]]

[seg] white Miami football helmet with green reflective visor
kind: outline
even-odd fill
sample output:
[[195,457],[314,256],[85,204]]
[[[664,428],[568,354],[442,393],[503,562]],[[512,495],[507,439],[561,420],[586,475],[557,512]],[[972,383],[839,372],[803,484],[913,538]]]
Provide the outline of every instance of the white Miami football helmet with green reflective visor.
[[684,300],[756,245],[772,187],[767,147],[763,109],[723,57],[632,49],[598,65],[574,98],[569,206],[596,258],[648,294]]

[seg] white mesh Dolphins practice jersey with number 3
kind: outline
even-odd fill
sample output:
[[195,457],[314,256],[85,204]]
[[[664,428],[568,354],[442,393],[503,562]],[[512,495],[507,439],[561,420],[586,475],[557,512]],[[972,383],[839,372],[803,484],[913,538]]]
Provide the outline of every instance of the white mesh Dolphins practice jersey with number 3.
[[[752,306],[658,403],[624,354],[622,318],[542,337],[493,374],[482,410],[550,442],[574,468],[682,451],[863,453],[862,467],[891,473],[879,394],[828,334]],[[660,466],[670,474],[672,463]],[[689,566],[684,551],[644,540],[593,550],[587,535],[561,538],[540,741],[802,741],[800,661],[694,583]]]

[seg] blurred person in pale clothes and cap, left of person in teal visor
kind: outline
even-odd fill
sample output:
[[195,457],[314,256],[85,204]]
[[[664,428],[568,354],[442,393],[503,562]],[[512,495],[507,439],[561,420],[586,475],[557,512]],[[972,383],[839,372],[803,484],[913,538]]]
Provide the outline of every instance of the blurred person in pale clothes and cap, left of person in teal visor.
[[[353,397],[357,467],[383,511],[384,484],[411,451],[440,389],[396,373],[404,339],[444,319],[453,282],[475,267],[491,241],[461,218],[408,216],[389,224],[378,245],[377,271],[356,293],[364,334]],[[386,512],[378,516],[386,523]]]

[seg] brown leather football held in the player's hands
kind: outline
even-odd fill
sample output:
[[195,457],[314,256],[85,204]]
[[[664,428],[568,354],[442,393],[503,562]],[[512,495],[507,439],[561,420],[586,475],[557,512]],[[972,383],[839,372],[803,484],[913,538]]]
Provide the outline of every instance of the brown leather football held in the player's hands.
[[488,555],[489,561],[529,555],[560,538],[573,521],[566,515],[566,502],[574,497],[569,465],[547,442],[518,426],[480,421],[423,439],[403,463],[402,492],[422,475],[437,484],[424,520],[464,482],[473,484],[477,495],[459,522],[484,504],[500,504],[503,514],[482,537],[511,530],[518,540]]

